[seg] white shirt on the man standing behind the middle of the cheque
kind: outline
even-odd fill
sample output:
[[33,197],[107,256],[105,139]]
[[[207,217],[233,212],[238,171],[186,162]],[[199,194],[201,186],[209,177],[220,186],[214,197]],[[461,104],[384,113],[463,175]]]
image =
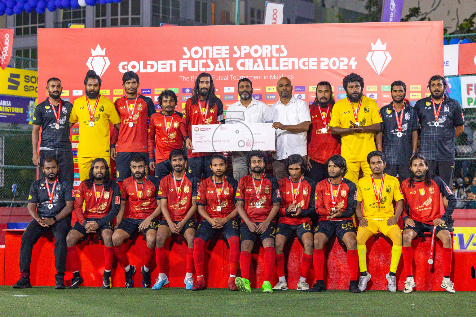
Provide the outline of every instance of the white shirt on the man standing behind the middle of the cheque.
[[269,106],[261,101],[251,98],[248,107],[238,100],[233,105],[228,106],[225,112],[226,123],[267,123],[273,122]]

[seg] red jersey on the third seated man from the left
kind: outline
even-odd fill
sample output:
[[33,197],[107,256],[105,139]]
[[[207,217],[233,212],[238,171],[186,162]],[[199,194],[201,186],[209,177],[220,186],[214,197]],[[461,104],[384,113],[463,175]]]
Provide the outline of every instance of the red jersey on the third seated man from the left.
[[[137,184],[137,189],[136,189]],[[146,175],[143,183],[137,183],[134,176],[126,178],[121,185],[120,199],[129,199],[129,215],[127,218],[146,219],[157,208],[157,193],[159,192],[159,179]]]

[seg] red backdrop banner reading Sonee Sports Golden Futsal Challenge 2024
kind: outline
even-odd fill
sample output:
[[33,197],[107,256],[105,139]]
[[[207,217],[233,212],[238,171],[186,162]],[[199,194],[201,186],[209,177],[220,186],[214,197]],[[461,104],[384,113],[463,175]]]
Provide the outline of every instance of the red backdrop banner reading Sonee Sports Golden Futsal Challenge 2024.
[[[206,71],[226,109],[238,100],[242,77],[252,80],[256,99],[272,105],[279,98],[279,77],[287,76],[294,96],[307,102],[314,100],[316,84],[327,80],[337,101],[346,97],[342,77],[356,72],[365,80],[364,96],[379,106],[391,101],[395,80],[407,84],[413,105],[429,93],[429,77],[443,74],[443,47],[435,45],[442,36],[441,21],[39,29],[39,87],[59,77],[62,97],[74,102],[84,95],[86,72],[94,69],[102,79],[101,94],[114,101],[124,96],[122,74],[133,70],[142,95],[156,100],[163,89],[172,89],[181,111],[195,77]],[[40,100],[46,96],[39,92]],[[73,150],[77,139],[73,128]]]

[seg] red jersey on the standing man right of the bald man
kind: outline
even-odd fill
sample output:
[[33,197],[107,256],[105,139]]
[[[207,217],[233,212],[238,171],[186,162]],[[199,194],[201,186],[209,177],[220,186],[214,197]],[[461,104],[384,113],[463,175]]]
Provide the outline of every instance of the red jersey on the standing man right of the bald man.
[[[316,105],[309,105],[311,113],[311,125],[307,132],[307,155],[317,162],[324,164],[327,159],[334,154],[340,154],[340,135],[330,133],[330,116],[332,106],[326,116],[326,126],[322,118],[326,115],[327,107],[320,108]],[[322,113],[319,114],[319,112]],[[322,133],[321,129],[326,128],[326,133]]]

